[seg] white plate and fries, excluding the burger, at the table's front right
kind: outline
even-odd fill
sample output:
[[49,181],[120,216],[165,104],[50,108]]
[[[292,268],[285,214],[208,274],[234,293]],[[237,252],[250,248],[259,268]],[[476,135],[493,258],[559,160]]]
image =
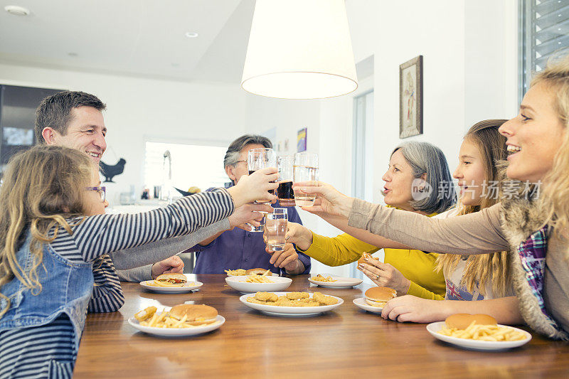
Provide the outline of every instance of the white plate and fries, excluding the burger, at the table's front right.
[[500,351],[531,341],[527,331],[506,325],[475,325],[467,329],[449,329],[445,321],[427,325],[427,331],[441,341],[472,350]]

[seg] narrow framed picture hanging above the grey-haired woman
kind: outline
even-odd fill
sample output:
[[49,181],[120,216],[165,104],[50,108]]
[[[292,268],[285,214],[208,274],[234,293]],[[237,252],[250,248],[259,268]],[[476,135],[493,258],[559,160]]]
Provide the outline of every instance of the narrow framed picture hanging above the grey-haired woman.
[[422,55],[399,66],[399,138],[422,134]]

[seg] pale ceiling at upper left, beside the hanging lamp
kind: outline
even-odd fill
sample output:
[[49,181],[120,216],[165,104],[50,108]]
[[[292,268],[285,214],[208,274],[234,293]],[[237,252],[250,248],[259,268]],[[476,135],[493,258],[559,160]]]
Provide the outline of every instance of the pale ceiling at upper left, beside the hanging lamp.
[[[0,0],[0,63],[240,82],[255,0]],[[31,11],[14,16],[4,6]],[[188,38],[186,32],[196,32]]]

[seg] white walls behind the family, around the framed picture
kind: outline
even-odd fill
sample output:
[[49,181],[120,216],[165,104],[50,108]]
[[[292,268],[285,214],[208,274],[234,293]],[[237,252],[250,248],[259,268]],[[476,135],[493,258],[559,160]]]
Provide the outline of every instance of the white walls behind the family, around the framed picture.
[[[371,83],[358,92],[327,100],[277,100],[248,95],[238,84],[174,82],[0,65],[0,82],[68,88],[95,93],[107,103],[109,145],[104,161],[127,159],[112,188],[117,201],[132,183],[140,191],[144,142],[204,142],[226,146],[245,132],[274,128],[275,145],[308,128],[307,151],[320,156],[320,177],[351,191],[353,96],[374,90],[373,200],[383,199],[381,176],[389,152],[400,142],[399,65],[423,55],[424,134],[408,140],[440,146],[450,164],[464,132],[482,119],[511,117],[517,107],[517,1],[346,0],[356,62],[374,56]],[[336,228],[300,211],[317,233]],[[314,271],[346,274],[346,267]]]

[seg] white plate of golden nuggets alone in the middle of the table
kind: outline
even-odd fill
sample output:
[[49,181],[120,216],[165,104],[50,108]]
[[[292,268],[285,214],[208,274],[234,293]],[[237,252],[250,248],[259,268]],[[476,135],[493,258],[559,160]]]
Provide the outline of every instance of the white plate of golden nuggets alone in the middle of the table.
[[257,292],[239,300],[252,309],[273,316],[314,316],[336,309],[344,300],[320,292]]

